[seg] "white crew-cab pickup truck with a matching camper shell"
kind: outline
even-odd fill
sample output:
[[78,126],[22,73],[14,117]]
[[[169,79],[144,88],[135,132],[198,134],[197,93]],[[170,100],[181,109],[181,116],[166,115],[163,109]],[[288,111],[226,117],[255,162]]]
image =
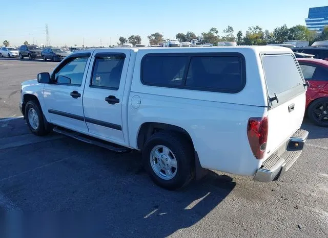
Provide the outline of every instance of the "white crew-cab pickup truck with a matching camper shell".
[[36,135],[141,151],[152,180],[177,189],[207,169],[278,179],[308,137],[307,87],[285,47],[93,49],[23,82],[20,109]]

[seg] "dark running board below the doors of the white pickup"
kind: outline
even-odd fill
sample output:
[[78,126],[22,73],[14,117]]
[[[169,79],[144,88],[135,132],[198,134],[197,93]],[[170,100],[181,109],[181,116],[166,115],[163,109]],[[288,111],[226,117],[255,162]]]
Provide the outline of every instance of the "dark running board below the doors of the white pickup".
[[88,136],[88,135],[84,135],[84,134],[78,133],[76,131],[72,131],[72,130],[63,128],[63,127],[55,127],[55,128],[53,128],[53,131],[57,132],[59,134],[63,134],[63,135],[72,137],[74,139],[78,139],[80,141],[87,142],[89,144],[93,144],[93,145],[96,145],[96,146],[106,148],[106,149],[114,151],[114,152],[119,152],[119,153],[129,153],[129,152],[131,152],[130,148],[122,147],[122,146],[113,144],[111,142],[101,140],[101,139],[98,139],[98,138],[94,138],[94,137],[91,137],[91,136]]

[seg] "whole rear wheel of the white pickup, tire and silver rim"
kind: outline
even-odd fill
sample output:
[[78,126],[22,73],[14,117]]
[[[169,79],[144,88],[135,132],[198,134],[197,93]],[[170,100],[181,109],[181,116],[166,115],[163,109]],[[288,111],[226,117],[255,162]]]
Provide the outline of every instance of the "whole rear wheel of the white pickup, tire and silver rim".
[[175,190],[194,178],[193,146],[178,134],[159,132],[150,136],[142,159],[151,179],[163,188]]

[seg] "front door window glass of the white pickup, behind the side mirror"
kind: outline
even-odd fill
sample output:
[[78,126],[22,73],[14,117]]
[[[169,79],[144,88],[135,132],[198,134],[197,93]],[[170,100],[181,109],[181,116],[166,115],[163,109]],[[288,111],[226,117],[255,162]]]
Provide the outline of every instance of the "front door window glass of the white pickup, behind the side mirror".
[[54,72],[53,82],[61,84],[57,82],[57,78],[58,76],[65,76],[70,79],[71,83],[69,85],[81,86],[87,61],[88,57],[69,58],[66,62],[63,62],[63,66],[57,68]]

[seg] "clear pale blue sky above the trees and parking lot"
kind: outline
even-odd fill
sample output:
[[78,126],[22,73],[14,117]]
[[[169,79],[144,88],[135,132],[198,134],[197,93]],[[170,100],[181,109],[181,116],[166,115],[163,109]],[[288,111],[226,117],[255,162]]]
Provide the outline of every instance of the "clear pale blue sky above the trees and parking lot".
[[1,8],[0,45],[46,44],[46,24],[53,46],[116,45],[119,36],[130,35],[148,45],[147,36],[155,32],[175,39],[177,33],[200,35],[216,27],[222,35],[228,25],[235,34],[256,25],[273,31],[283,24],[305,25],[310,7],[327,5],[327,0],[16,0]]

